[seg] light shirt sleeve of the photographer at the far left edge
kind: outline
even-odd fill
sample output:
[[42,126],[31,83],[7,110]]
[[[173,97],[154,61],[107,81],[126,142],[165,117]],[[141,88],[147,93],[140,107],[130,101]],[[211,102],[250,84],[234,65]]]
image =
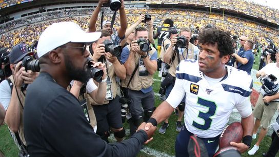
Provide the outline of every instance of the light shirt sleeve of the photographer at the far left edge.
[[11,101],[11,87],[7,80],[4,80],[0,83],[0,103],[4,106],[5,110],[7,111],[8,106]]

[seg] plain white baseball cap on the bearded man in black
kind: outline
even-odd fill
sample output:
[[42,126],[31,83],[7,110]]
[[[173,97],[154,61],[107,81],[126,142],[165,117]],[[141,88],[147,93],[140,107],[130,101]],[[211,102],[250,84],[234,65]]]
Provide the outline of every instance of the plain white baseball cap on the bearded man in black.
[[74,22],[60,22],[50,25],[39,37],[37,54],[42,57],[51,50],[72,43],[92,43],[101,36],[101,32],[86,33]]

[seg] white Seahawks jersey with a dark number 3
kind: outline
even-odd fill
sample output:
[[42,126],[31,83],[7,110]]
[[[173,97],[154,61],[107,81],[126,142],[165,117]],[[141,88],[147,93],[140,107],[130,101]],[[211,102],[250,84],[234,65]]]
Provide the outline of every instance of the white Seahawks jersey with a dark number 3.
[[184,121],[188,131],[201,138],[222,133],[234,106],[242,117],[252,114],[252,78],[247,72],[226,66],[227,74],[209,85],[195,60],[184,60],[176,69],[175,85],[166,100],[173,108],[186,97]]

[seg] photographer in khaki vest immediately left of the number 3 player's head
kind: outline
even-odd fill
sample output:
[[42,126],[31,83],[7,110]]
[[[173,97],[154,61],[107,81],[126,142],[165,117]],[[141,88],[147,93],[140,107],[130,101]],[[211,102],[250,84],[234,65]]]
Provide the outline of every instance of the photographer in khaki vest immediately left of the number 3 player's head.
[[[191,30],[189,28],[183,27],[180,29],[180,36],[184,37],[182,38],[182,41],[184,40],[184,45],[181,45],[181,47],[177,46],[177,38],[176,36],[173,36],[171,39],[171,44],[169,48],[166,50],[166,53],[164,55],[164,62],[170,65],[169,74],[166,76],[165,80],[162,82],[162,84],[166,84],[166,98],[169,96],[175,82],[175,70],[177,65],[182,60],[188,60],[188,59],[195,59],[197,60],[198,52],[200,51],[196,46],[194,46],[192,43],[190,43],[191,38]],[[183,43],[183,42],[182,42]],[[168,79],[167,79],[168,78]],[[166,80],[167,79],[167,80]],[[161,84],[161,85],[162,85]],[[182,117],[184,113],[185,108],[185,99],[178,105],[178,120],[176,121],[176,131],[180,132],[182,128]],[[163,133],[166,131],[168,124],[168,119],[164,122],[162,127],[160,128],[159,132]]]

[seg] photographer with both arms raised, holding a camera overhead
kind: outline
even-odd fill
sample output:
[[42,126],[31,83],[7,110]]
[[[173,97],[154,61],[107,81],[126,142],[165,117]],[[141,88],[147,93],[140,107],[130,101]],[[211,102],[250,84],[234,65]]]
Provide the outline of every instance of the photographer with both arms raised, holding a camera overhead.
[[[119,0],[121,2],[121,8],[119,9],[119,16],[120,16],[120,28],[117,29],[116,32],[112,32],[111,21],[103,21],[101,24],[103,27],[103,30],[108,30],[111,33],[112,43],[114,45],[119,45],[121,41],[125,38],[125,31],[127,29],[127,16],[125,13],[125,6],[124,6],[124,0]],[[96,22],[98,19],[99,11],[101,10],[101,7],[105,4],[109,4],[109,0],[99,0],[98,5],[94,9],[92,16],[89,21],[88,25],[88,32],[95,32],[96,31]]]

